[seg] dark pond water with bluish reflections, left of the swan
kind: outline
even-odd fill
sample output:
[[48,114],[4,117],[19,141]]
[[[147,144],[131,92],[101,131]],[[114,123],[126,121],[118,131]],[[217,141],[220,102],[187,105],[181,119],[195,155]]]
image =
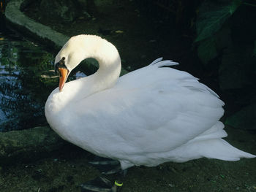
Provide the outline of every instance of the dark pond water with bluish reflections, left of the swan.
[[24,39],[0,38],[0,131],[42,126],[45,100],[58,85],[53,55]]

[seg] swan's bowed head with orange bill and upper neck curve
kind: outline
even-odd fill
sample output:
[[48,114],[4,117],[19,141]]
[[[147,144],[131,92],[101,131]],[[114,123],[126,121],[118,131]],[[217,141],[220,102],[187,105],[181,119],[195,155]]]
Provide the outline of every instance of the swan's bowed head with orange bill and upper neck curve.
[[95,35],[78,35],[71,37],[56,55],[55,69],[59,72],[59,91],[64,87],[72,69],[86,58],[95,58],[102,69],[106,69],[106,66],[112,69],[111,65],[116,65],[116,74],[119,76],[121,61],[116,47]]

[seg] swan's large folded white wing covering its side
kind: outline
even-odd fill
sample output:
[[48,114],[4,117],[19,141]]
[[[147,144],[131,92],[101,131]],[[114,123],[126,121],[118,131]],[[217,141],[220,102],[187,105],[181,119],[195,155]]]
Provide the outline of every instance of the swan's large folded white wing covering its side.
[[76,115],[84,117],[83,126],[97,141],[94,149],[112,155],[167,152],[223,115],[224,103],[206,85],[187,72],[156,65],[124,75],[115,88],[78,104]]

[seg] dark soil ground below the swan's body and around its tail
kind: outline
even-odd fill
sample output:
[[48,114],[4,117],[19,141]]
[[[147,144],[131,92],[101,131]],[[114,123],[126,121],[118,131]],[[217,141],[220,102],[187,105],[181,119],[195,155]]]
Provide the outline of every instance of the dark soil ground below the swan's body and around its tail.
[[[256,153],[255,134],[226,128],[230,144]],[[0,191],[80,191],[80,184],[99,175],[88,161],[93,155],[73,145],[31,163],[17,162],[0,169]],[[200,158],[182,164],[132,167],[122,192],[256,191],[256,161],[228,162]]]

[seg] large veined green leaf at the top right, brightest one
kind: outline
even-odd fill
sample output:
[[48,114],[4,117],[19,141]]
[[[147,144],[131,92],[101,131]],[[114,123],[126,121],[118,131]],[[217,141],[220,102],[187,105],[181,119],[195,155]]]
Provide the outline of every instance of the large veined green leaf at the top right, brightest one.
[[195,42],[211,37],[223,23],[230,18],[236,9],[241,5],[241,0],[233,0],[229,4],[219,5],[214,1],[204,1],[197,15],[197,38]]

